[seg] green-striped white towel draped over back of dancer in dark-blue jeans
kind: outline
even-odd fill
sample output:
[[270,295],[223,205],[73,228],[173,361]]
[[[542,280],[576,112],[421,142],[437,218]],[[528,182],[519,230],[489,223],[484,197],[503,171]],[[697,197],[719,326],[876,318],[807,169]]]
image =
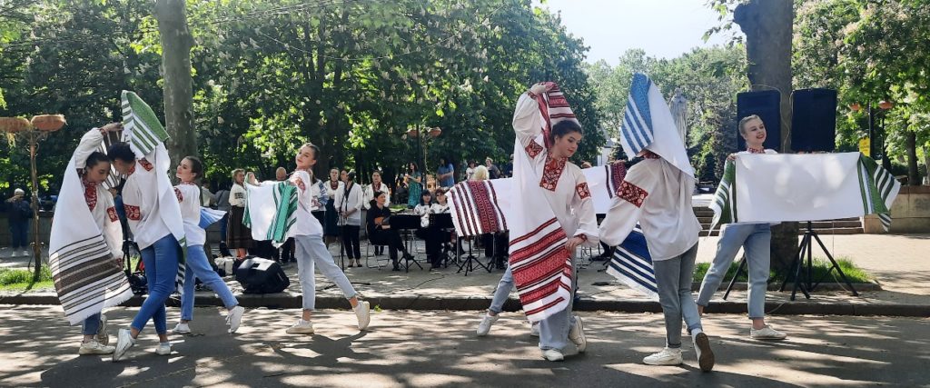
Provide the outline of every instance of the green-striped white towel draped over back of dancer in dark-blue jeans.
[[[126,191],[155,191],[158,193],[157,205],[154,206],[158,209],[157,217],[164,222],[167,230],[178,240],[181,248],[178,257],[178,274],[175,276],[175,287],[178,292],[183,292],[187,240],[184,236],[184,221],[181,219],[178,197],[175,194],[174,185],[171,184],[167,175],[167,171],[171,167],[171,159],[168,157],[165,148],[168,133],[161,122],[158,121],[158,117],[155,116],[152,108],[141,100],[136,93],[123,90],[121,100],[123,104],[123,140],[129,144],[129,147],[139,159],[138,165],[142,167],[137,168],[134,174],[154,174],[154,179],[126,179],[126,185],[123,187],[124,195],[126,195]],[[160,230],[160,228],[142,228],[142,230]],[[136,235],[136,242],[140,244],[140,247],[145,247],[154,243],[157,238],[163,235],[144,235],[143,232]]]

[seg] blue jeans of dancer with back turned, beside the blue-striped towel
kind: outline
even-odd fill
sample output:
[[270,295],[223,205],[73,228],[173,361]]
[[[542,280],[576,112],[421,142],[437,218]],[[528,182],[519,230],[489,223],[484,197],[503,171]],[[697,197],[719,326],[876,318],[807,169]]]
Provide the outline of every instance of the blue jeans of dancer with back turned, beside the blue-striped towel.
[[665,316],[665,343],[670,348],[682,347],[682,319],[688,331],[700,328],[700,314],[691,295],[691,280],[695,274],[697,244],[669,260],[654,261],[658,302]]

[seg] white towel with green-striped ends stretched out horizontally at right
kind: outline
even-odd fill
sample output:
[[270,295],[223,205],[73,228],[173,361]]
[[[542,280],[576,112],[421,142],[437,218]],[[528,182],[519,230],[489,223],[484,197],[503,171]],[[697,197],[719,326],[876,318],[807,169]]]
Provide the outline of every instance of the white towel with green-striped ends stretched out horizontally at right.
[[711,201],[711,228],[875,214],[888,231],[900,187],[891,173],[859,153],[739,155],[724,166]]

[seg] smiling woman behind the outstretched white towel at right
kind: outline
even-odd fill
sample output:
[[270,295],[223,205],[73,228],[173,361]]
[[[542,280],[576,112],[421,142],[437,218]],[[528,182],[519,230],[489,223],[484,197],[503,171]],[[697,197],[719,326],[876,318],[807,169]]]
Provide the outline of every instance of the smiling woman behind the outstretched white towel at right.
[[[765,125],[759,116],[752,114],[739,120],[739,135],[746,140],[746,151],[739,154],[777,154],[775,150],[764,148]],[[730,155],[735,158],[735,155]],[[697,313],[704,314],[704,308],[711,302],[714,291],[720,287],[724,274],[730,263],[742,247],[746,252],[749,265],[750,287],[746,303],[752,321],[750,338],[753,340],[784,340],[788,336],[765,325],[765,290],[768,287],[769,245],[772,230],[769,223],[728,223],[720,231],[717,242],[717,255],[713,258],[711,269],[704,275],[700,292],[697,293]]]

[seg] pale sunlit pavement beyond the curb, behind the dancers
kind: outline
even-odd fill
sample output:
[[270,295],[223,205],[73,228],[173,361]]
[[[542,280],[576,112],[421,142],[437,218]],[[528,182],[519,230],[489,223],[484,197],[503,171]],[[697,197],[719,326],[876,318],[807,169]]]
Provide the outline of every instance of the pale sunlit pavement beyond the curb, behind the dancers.
[[[770,291],[767,310],[774,314],[904,314],[930,315],[930,234],[851,234],[824,235],[824,244],[834,257],[847,258],[873,274],[882,290],[860,290],[854,297],[842,288],[833,290],[817,289],[810,301],[805,301],[799,293],[798,301],[790,302],[790,292]],[[716,248],[717,237],[701,237],[697,261],[711,261]],[[339,261],[339,246],[331,246],[331,251]],[[422,256],[422,245],[419,247]],[[363,253],[365,247],[363,247]],[[824,255],[815,249],[815,256]],[[385,260],[387,256],[381,257]],[[6,261],[6,260],[5,260]],[[20,260],[21,261],[21,260]],[[23,263],[25,261],[22,261]],[[371,263],[374,265],[374,258]],[[384,262],[382,261],[382,264]],[[426,266],[426,265],[424,265]],[[416,268],[416,267],[415,267]],[[620,285],[615,279],[603,272],[603,261],[594,261],[578,272],[580,309],[615,310],[615,311],[655,311],[658,304],[651,303],[630,288]],[[345,272],[363,297],[383,304],[385,308],[417,309],[483,309],[489,303],[491,294],[502,274],[494,270],[490,274],[484,270],[472,272],[468,276],[457,274],[457,269],[449,268],[430,272],[411,270],[410,273],[392,272],[390,268],[346,268]],[[287,265],[286,273],[290,275],[291,286],[286,294],[250,295],[251,301],[246,305],[274,305],[280,307],[299,306],[300,288],[297,281],[297,266]],[[233,277],[227,278],[230,286],[237,293],[242,291]],[[318,300],[321,307],[345,307],[348,303],[341,301],[339,288],[326,278],[317,275]],[[33,296],[45,295],[48,299],[32,303],[55,302],[54,292],[35,290]],[[734,291],[723,302],[723,292],[719,292],[715,301],[720,306],[710,312],[738,313],[745,311],[745,291]],[[198,303],[212,304],[218,302],[212,293],[205,292]],[[16,302],[15,296],[0,294],[0,302]],[[515,294],[512,294],[515,300]],[[616,304],[616,302],[632,304]],[[586,304],[587,303],[587,304]],[[345,306],[343,306],[345,304]],[[648,306],[652,306],[651,308]],[[793,306],[793,307],[792,307]],[[800,306],[800,307],[799,307]],[[876,311],[879,306],[892,306],[898,310]],[[917,310],[900,310],[905,307],[917,307]],[[513,301],[507,305],[517,309]],[[800,308],[800,310],[798,310]],[[743,310],[740,310],[743,309]]]

